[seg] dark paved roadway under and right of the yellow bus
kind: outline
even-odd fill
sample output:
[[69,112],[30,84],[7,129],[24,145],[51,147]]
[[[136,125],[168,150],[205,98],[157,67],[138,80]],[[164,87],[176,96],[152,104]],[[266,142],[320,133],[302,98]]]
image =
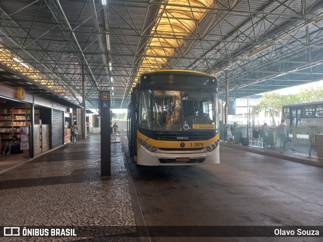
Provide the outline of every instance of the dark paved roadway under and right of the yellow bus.
[[[221,164],[146,167],[131,162],[147,226],[323,225],[323,168],[221,147]],[[314,237],[152,238],[151,241],[322,241]]]

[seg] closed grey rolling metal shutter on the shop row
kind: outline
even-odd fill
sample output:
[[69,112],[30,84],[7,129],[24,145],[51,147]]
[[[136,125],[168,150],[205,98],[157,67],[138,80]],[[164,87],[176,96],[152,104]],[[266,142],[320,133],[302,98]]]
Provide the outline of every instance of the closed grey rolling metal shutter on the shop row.
[[63,134],[64,113],[63,111],[52,109],[51,148],[63,145]]

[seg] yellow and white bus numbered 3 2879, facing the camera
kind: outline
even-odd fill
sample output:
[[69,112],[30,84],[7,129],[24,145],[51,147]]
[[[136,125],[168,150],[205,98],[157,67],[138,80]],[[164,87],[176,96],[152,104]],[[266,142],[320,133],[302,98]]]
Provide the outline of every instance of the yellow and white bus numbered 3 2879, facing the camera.
[[193,71],[142,73],[128,106],[128,142],[138,165],[218,164],[218,80]]

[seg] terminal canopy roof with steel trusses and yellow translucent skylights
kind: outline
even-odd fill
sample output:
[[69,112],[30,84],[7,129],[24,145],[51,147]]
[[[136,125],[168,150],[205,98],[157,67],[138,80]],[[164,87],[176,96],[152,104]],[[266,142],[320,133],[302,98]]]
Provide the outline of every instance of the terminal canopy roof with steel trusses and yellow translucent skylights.
[[[0,83],[30,82],[76,105],[126,108],[138,74],[205,72],[220,98],[322,80],[323,2],[317,0],[2,0]],[[44,94],[44,93],[42,93]],[[40,95],[40,94],[39,94]],[[46,96],[46,95],[44,95]]]

